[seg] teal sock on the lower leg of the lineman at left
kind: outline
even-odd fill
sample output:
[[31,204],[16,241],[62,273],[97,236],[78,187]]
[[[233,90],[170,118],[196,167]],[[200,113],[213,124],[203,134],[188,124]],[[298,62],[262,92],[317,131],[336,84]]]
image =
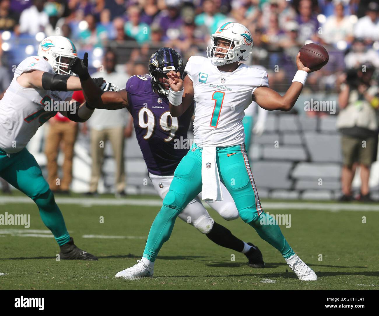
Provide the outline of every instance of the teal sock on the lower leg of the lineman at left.
[[62,246],[70,241],[63,215],[58,205],[55,203],[54,195],[51,190],[33,199],[36,202],[39,215],[45,226],[51,230],[57,243]]

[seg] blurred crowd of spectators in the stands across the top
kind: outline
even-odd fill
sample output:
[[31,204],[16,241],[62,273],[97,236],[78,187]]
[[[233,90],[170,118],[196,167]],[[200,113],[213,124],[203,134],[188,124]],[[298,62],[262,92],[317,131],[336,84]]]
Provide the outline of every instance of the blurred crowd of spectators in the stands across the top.
[[2,60],[11,69],[58,34],[72,39],[79,55],[88,51],[93,68],[112,48],[128,75],[146,73],[159,47],[185,60],[206,55],[210,34],[230,20],[251,30],[248,63],[268,69],[273,89],[287,87],[297,51],[310,41],[330,55],[308,80],[313,90],[338,89],[338,75],[366,61],[379,67],[378,4],[366,0],[1,0]]

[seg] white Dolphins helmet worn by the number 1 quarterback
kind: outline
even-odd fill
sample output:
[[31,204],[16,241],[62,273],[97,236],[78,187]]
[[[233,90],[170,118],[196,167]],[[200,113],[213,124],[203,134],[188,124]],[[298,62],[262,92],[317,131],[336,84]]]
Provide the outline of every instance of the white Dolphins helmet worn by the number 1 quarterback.
[[[229,48],[216,46],[216,38],[230,40]],[[232,48],[232,46],[234,47]],[[253,47],[253,38],[246,26],[227,22],[221,25],[215,33],[211,35],[211,45],[207,47],[208,58],[212,59],[212,64],[221,66],[235,61],[246,61],[249,59]],[[215,56],[217,48],[227,50],[223,58]],[[221,53],[221,52],[218,52]]]

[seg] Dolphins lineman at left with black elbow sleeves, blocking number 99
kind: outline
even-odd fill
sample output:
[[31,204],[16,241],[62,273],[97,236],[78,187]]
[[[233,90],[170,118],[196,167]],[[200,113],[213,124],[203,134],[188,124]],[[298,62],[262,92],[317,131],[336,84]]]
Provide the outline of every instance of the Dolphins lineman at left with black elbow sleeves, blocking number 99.
[[[26,149],[37,129],[56,114],[50,107],[55,101],[70,102],[68,111],[60,113],[72,121],[84,122],[91,116],[93,109],[72,104],[72,91],[81,90],[79,78],[68,70],[76,52],[70,39],[49,36],[39,45],[38,56],[30,56],[17,66],[0,100],[0,177],[37,204],[42,221],[60,246],[61,259],[97,260],[75,246],[41,168]],[[103,82],[102,78],[94,80]]]

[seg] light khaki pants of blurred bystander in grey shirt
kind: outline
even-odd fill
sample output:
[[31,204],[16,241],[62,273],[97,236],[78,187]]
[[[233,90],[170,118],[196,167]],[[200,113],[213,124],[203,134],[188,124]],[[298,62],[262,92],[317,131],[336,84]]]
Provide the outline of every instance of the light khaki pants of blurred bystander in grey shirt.
[[124,127],[106,128],[101,131],[91,129],[91,181],[89,191],[95,192],[101,175],[101,167],[104,158],[104,146],[110,140],[113,149],[113,156],[116,162],[115,187],[116,192],[125,189],[125,170],[124,170]]

